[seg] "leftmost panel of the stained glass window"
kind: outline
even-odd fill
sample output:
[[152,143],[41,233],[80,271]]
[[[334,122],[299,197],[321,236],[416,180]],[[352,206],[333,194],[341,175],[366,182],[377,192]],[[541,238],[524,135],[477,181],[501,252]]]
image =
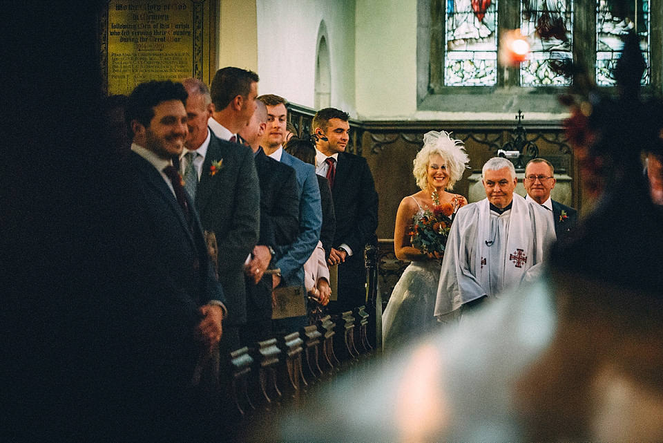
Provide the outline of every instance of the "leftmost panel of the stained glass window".
[[444,84],[497,83],[497,0],[447,0]]

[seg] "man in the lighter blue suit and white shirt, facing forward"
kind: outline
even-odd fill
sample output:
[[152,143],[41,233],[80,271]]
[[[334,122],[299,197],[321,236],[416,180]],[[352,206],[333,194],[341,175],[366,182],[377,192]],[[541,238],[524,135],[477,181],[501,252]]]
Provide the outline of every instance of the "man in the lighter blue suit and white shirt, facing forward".
[[[273,278],[273,286],[304,287],[304,263],[313,254],[323,225],[323,210],[320,205],[320,188],[316,178],[316,169],[283,151],[287,123],[286,101],[278,95],[260,95],[258,97],[267,106],[267,129],[262,137],[262,149],[269,157],[295,169],[299,203],[299,233],[294,243],[282,248],[282,256],[276,262],[280,275]],[[283,324],[283,322],[280,322]],[[306,318],[295,317],[285,326],[285,332],[292,332],[305,326]],[[275,323],[276,327],[276,323]]]

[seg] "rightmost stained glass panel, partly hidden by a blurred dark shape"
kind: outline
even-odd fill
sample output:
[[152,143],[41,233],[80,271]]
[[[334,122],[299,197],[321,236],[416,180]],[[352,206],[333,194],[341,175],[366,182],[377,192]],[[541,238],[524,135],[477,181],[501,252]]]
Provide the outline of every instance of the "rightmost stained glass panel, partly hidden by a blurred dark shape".
[[[615,86],[614,69],[624,42],[620,38],[633,29],[640,37],[640,49],[647,64],[642,84],[649,83],[649,0],[633,2],[598,0],[596,8],[596,83]],[[626,7],[630,10],[622,10]],[[624,19],[623,17],[627,17]]]

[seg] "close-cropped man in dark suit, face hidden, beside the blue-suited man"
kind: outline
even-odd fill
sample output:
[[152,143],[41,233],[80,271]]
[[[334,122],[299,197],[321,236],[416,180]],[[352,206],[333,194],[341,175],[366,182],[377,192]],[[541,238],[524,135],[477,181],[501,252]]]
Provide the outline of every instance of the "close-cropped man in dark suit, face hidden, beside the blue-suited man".
[[[239,135],[251,147],[260,182],[260,238],[244,273],[247,279],[247,323],[240,328],[242,346],[272,337],[272,276],[265,270],[281,247],[295,241],[299,227],[299,196],[295,170],[267,157],[260,148],[267,126],[267,108],[256,100],[256,112]],[[273,255],[272,255],[273,253]]]

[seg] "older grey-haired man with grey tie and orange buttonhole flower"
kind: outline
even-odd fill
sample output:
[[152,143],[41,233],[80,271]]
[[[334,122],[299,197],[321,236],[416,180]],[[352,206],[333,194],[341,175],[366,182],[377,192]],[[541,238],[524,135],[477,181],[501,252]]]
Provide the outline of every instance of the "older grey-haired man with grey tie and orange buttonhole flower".
[[240,347],[247,321],[244,263],[258,241],[260,189],[251,149],[216,137],[207,126],[212,113],[209,88],[185,79],[189,135],[180,161],[184,187],[193,196],[202,226],[218,243],[219,279],[227,297],[221,352]]

